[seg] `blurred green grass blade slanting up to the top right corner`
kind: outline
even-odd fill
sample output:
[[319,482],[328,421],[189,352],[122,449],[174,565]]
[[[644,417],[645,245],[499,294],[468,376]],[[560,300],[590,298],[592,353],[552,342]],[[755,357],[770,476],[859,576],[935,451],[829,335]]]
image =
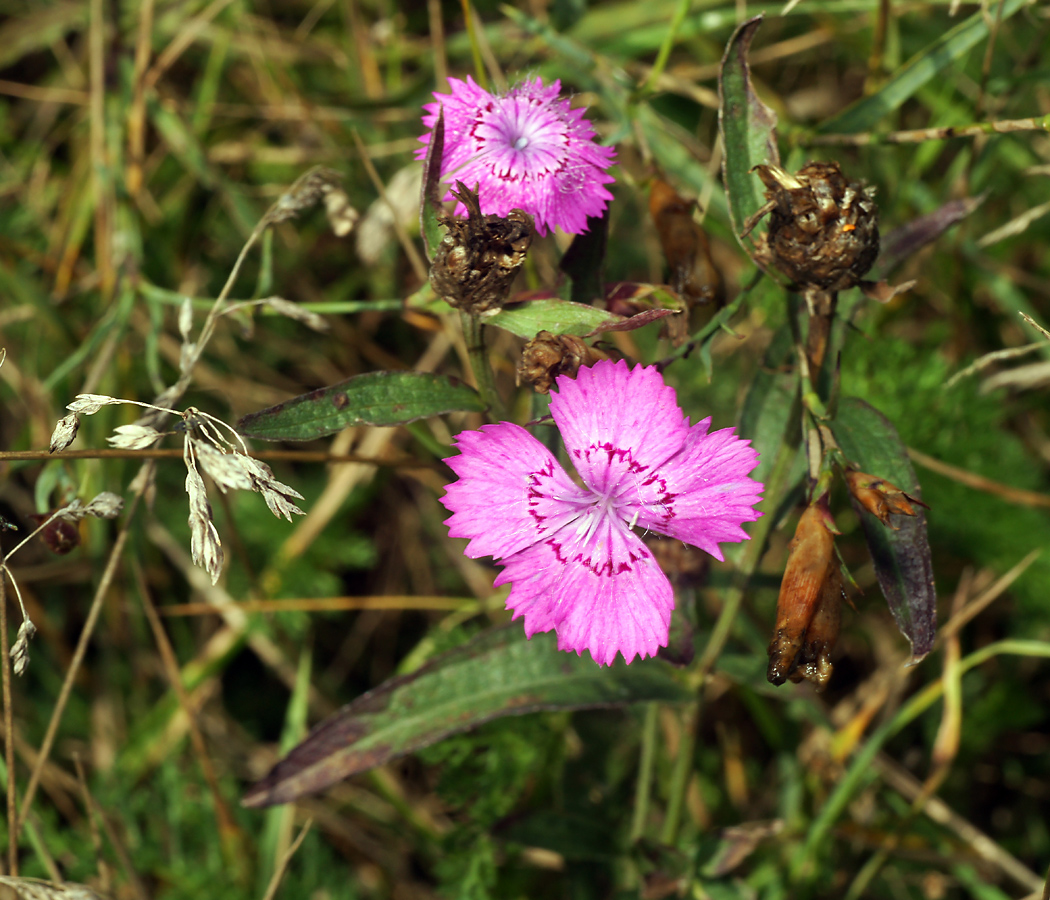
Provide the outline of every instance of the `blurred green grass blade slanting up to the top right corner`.
[[817,131],[821,134],[855,134],[874,128],[883,117],[898,109],[942,69],[983,41],[988,36],[988,23],[994,21],[994,17],[1005,22],[1027,3],[1028,0],[1004,0],[1001,7],[996,4],[990,16],[979,9],[912,57],[878,91],[828,119]]

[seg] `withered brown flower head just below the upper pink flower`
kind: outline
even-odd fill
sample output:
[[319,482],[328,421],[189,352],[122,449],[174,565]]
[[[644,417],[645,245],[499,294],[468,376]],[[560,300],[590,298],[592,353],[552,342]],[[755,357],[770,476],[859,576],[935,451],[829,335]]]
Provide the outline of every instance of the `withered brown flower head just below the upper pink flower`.
[[442,213],[446,233],[434,255],[430,285],[449,306],[471,315],[499,309],[532,243],[532,216],[512,209],[504,217],[482,215],[478,194],[462,182],[453,196],[467,217]]

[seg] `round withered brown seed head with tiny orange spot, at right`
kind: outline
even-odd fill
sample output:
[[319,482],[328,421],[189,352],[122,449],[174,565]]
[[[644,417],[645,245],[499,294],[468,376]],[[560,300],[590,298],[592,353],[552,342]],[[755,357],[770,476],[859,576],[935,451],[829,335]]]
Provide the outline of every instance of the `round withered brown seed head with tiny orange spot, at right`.
[[808,163],[794,175],[779,166],[755,170],[769,203],[744,233],[770,214],[770,264],[800,288],[844,291],[859,284],[879,255],[875,188],[846,181],[838,163]]

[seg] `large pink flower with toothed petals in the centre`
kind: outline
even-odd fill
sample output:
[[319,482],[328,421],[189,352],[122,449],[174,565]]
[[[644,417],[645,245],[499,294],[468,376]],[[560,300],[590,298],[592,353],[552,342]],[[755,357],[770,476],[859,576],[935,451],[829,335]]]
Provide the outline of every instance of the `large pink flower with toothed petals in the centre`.
[[501,422],[457,436],[459,481],[442,503],[468,557],[503,566],[507,608],[525,633],[554,629],[562,650],[600,665],[667,646],[674,594],[634,528],[693,544],[747,540],[762,485],[758,453],[732,428],[690,424],[653,368],[602,360],[558,379],[550,413],[582,485],[524,428]]

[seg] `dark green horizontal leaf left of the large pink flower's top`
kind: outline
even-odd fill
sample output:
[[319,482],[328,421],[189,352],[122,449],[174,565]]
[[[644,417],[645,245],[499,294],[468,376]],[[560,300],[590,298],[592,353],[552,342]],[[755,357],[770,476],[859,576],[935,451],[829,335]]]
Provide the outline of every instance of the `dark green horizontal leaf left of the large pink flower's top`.
[[458,410],[484,409],[477,391],[448,375],[370,372],[251,413],[237,423],[237,431],[264,441],[307,441],[348,425],[404,425]]

